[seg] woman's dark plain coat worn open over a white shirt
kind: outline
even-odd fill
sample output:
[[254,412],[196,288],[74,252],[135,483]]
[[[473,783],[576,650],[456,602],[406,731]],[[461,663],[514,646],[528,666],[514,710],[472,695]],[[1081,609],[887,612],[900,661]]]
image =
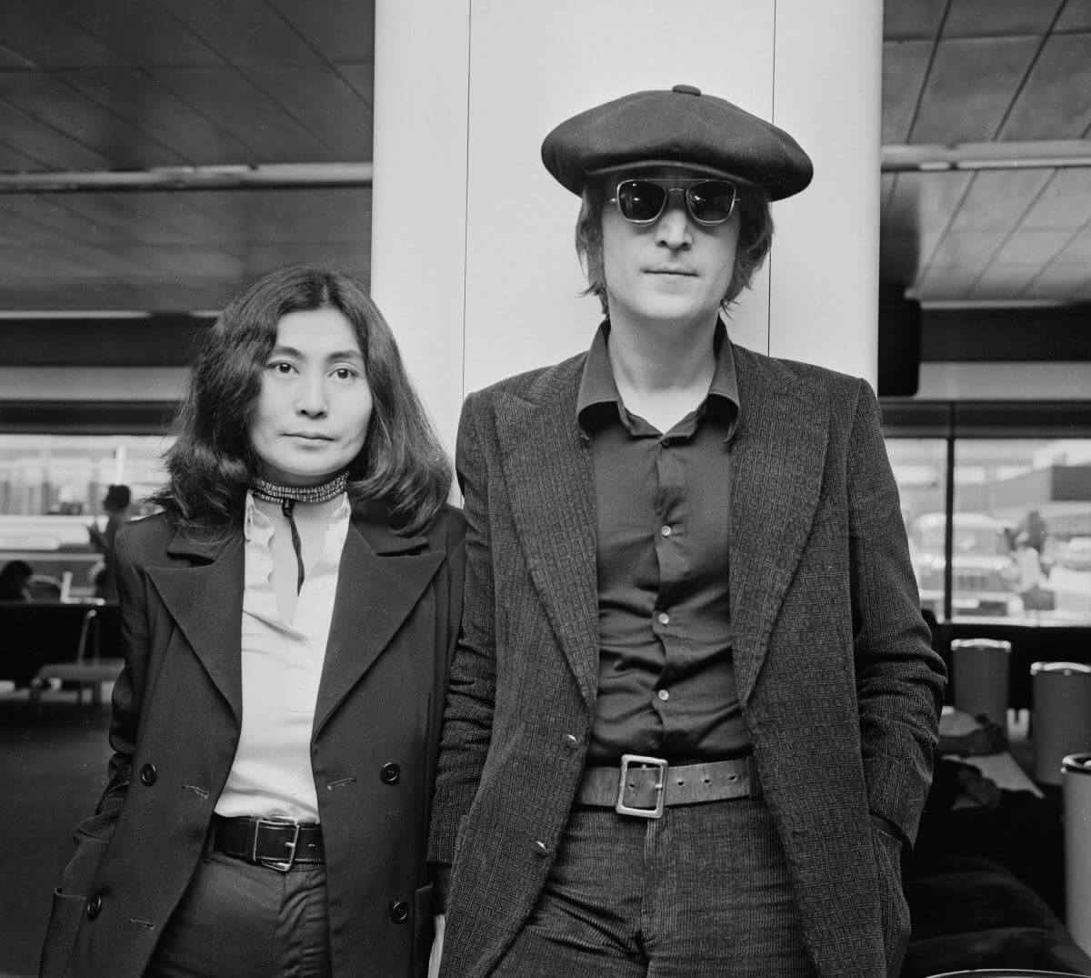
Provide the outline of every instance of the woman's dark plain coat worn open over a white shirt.
[[[311,735],[333,974],[423,975],[424,861],[444,683],[461,615],[465,524],[403,537],[371,505],[341,552]],[[61,886],[41,975],[137,978],[201,857],[242,708],[241,530],[206,544],[164,515],[118,536],[124,669],[110,780]],[[382,777],[387,764],[399,776]],[[273,870],[271,870],[273,872]]]

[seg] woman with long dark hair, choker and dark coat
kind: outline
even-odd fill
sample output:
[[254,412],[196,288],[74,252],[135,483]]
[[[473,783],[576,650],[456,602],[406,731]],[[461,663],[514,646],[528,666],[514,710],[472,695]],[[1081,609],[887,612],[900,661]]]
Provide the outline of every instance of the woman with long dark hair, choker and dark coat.
[[464,524],[361,286],[290,266],[233,299],[167,468],[118,536],[109,786],[41,973],[421,974]]

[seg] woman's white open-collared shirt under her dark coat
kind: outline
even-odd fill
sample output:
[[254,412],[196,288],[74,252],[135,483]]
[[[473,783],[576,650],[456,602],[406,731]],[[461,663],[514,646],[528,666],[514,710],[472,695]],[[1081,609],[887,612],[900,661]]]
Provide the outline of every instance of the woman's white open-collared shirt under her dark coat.
[[273,586],[272,521],[247,493],[243,523],[242,730],[216,813],[319,820],[311,729],[351,509],[343,496],[287,624]]

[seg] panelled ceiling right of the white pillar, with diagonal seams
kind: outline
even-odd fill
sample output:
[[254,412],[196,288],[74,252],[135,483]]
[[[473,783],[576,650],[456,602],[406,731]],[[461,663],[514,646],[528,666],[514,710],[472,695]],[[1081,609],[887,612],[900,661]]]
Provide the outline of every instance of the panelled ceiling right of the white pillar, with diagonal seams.
[[[1088,140],[1091,0],[887,3],[883,98],[885,145]],[[1091,299],[1091,169],[888,174],[882,220],[923,301]]]

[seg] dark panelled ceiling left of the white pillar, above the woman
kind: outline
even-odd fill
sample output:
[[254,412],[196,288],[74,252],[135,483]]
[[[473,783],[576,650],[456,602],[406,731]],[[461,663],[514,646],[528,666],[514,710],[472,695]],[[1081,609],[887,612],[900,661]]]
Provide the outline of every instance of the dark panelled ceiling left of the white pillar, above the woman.
[[[359,0],[0,3],[0,170],[371,159]],[[370,265],[371,191],[0,194],[0,309],[213,309],[288,261]]]

